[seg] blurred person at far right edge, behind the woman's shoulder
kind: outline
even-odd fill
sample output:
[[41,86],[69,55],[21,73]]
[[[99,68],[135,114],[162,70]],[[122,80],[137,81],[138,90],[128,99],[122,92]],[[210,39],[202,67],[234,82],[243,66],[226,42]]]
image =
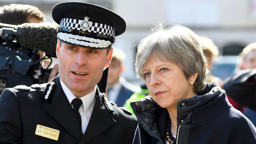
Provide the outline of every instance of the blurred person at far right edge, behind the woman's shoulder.
[[247,45],[239,56],[242,58],[242,70],[228,77],[224,88],[232,105],[241,109],[256,126],[256,42]]

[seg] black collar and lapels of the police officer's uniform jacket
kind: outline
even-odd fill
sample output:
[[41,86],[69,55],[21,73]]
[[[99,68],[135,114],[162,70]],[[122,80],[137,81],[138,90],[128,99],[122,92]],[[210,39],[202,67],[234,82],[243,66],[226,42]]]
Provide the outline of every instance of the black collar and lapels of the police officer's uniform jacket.
[[99,88],[97,87],[96,102],[87,129],[83,135],[71,104],[61,87],[60,77],[55,77],[51,82],[54,82],[55,84],[52,87],[48,99],[45,99],[45,95],[49,90],[50,83],[46,85],[42,96],[42,100],[51,103],[47,111],[52,118],[73,135],[79,143],[86,143],[116,122],[111,116],[111,113],[114,112],[111,104],[108,102],[105,95],[99,92]]

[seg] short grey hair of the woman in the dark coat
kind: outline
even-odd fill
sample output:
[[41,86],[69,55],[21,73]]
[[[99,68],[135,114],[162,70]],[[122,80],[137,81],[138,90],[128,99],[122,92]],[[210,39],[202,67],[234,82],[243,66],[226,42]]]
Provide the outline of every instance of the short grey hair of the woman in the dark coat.
[[198,72],[194,82],[194,92],[200,93],[207,81],[207,60],[203,54],[198,36],[189,28],[181,25],[159,23],[151,28],[151,34],[138,44],[135,70],[145,80],[143,69],[151,57],[178,65],[187,79]]

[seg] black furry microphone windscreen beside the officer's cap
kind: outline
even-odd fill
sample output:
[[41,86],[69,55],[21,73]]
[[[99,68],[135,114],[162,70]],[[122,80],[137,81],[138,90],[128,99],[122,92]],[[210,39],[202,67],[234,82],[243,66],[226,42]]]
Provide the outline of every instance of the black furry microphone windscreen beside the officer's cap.
[[39,49],[56,53],[58,24],[24,23],[18,38],[25,49]]

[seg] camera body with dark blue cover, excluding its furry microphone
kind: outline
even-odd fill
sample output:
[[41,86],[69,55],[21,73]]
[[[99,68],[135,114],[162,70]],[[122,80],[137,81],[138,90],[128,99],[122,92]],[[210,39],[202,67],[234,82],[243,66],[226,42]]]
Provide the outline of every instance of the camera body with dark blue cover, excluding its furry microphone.
[[41,66],[41,61],[46,57],[40,58],[36,48],[20,46],[16,38],[18,29],[3,28],[1,23],[0,27],[0,94],[5,88],[47,82],[51,69],[44,69]]

